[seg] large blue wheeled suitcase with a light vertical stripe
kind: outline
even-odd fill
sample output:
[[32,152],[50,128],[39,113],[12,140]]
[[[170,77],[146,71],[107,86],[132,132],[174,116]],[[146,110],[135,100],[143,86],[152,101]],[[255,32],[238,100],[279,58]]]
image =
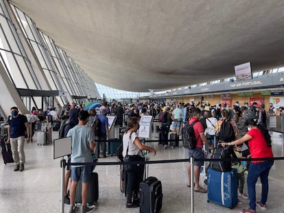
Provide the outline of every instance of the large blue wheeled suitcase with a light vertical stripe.
[[237,205],[237,170],[229,172],[207,171],[207,196],[208,202],[224,205],[233,209]]

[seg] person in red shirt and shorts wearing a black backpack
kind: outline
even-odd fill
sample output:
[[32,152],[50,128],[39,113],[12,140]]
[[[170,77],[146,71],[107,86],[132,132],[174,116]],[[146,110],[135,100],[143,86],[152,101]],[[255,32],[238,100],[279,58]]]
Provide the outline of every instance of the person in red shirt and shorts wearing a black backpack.
[[[199,108],[193,108],[192,110],[192,118],[189,120],[189,125],[193,123],[193,121],[199,121],[201,116],[201,111]],[[196,148],[189,149],[189,158],[196,159],[204,159],[204,153],[202,152],[203,142],[209,149],[213,149],[214,147],[209,144],[206,136],[204,135],[204,128],[201,122],[196,122],[193,125],[194,134],[196,136]],[[199,176],[200,176],[200,167],[203,166],[204,162],[195,161],[194,162],[194,191],[195,192],[207,192],[206,189],[202,188],[199,185]],[[187,167],[187,186],[191,187],[191,165]]]

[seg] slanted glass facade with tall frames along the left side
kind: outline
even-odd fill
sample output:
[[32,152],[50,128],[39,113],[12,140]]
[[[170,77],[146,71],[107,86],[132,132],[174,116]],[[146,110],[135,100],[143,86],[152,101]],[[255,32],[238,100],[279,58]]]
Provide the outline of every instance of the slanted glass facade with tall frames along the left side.
[[22,95],[27,110],[31,106],[45,109],[47,105],[56,105],[55,102],[63,105],[65,101],[84,103],[88,98],[100,99],[93,80],[82,68],[41,32],[29,16],[14,5],[10,5],[11,11],[6,3],[0,0],[0,62],[17,90],[50,92]]

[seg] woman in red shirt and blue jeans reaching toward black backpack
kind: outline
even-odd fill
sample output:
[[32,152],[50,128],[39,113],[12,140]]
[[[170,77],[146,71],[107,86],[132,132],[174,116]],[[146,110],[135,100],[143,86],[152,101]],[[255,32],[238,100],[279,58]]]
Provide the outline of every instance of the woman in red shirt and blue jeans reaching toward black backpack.
[[[262,125],[257,125],[257,119],[248,118],[246,121],[248,132],[238,140],[233,142],[222,142],[225,145],[238,145],[248,140],[248,147],[252,158],[273,158],[271,138],[268,130]],[[250,208],[242,210],[243,213],[256,212],[256,205],[262,210],[266,210],[266,201],[268,199],[268,175],[270,168],[273,165],[273,160],[257,160],[252,161],[248,168],[248,196],[250,197]],[[260,177],[262,189],[261,200],[256,202],[255,184]]]

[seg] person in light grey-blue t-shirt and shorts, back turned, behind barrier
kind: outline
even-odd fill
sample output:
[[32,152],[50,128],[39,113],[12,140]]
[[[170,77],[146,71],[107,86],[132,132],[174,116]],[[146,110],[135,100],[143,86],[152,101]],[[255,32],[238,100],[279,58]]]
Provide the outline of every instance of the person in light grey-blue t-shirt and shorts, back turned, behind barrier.
[[[67,133],[67,137],[72,138],[71,163],[93,162],[91,151],[95,148],[95,134],[93,129],[86,126],[88,122],[88,112],[79,112],[79,123]],[[87,206],[88,181],[91,179],[93,166],[71,166],[71,186],[70,186],[70,208],[69,213],[75,212],[75,193],[78,181],[82,180],[82,208],[81,212],[91,212],[95,206]]]

